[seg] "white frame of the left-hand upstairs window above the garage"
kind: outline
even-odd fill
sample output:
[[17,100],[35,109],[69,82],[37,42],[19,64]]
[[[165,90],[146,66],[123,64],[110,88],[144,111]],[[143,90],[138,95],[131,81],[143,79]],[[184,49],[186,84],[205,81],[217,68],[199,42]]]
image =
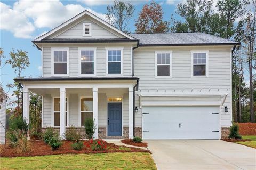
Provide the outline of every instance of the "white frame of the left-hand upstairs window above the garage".
[[[170,54],[170,63],[169,64],[157,64],[157,54]],[[157,76],[157,66],[170,66],[170,75],[169,76]],[[155,78],[172,78],[172,50],[169,51],[155,51]]]

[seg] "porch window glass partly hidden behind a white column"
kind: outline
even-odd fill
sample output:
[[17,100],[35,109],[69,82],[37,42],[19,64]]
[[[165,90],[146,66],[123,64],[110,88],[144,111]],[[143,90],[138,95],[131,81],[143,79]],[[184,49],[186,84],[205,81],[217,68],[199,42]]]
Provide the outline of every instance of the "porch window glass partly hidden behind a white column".
[[[68,118],[68,99],[66,98],[66,123]],[[53,98],[53,126],[60,126],[60,98]]]

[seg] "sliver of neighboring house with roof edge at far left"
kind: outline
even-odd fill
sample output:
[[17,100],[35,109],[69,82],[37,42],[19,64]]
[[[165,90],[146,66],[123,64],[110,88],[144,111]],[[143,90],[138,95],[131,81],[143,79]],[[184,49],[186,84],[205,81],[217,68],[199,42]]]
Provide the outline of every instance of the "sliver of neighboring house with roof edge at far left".
[[1,98],[3,98],[3,102],[0,104],[0,144],[5,144],[6,101],[9,100],[9,97],[1,87],[0,87],[0,94],[1,94]]

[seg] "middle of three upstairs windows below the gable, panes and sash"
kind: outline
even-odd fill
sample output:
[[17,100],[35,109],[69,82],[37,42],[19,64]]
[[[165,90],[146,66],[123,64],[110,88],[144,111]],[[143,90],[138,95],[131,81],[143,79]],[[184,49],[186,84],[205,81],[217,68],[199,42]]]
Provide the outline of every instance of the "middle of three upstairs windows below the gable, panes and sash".
[[96,73],[96,48],[85,49],[79,48],[79,74],[81,75],[95,75]]

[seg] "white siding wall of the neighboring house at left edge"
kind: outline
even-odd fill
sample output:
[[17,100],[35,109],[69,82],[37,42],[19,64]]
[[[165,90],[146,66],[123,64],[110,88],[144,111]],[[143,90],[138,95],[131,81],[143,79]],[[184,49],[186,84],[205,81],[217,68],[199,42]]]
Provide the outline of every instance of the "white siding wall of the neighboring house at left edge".
[[[3,100],[0,110],[0,144],[5,143],[5,127],[6,127],[6,100]],[[4,126],[4,127],[3,127]]]

